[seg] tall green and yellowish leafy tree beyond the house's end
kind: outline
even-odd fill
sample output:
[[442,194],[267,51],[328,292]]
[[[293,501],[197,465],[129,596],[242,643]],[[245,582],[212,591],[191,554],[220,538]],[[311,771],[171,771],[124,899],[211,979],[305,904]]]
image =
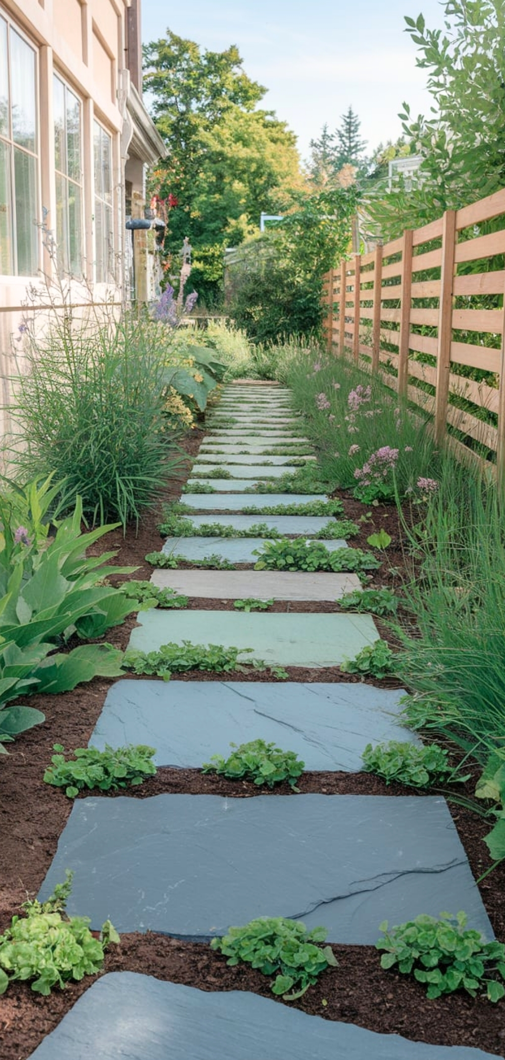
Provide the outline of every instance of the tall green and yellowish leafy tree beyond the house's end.
[[[168,264],[187,235],[191,281],[201,301],[222,296],[223,251],[259,229],[262,211],[293,206],[303,187],[296,138],[275,113],[258,109],[266,89],[242,69],[238,49],[202,50],[167,37],[144,48],[145,88],[167,143],[152,191],[176,200],[164,241]],[[190,285],[188,285],[188,290]]]

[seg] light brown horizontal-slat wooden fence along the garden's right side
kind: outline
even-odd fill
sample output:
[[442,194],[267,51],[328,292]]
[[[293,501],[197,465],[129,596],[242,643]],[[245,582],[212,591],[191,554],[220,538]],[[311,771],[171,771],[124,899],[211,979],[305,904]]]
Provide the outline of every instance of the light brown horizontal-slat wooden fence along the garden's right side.
[[505,484],[504,294],[505,189],[341,262],[324,287],[328,348],[380,373],[433,416],[438,441],[495,463]]

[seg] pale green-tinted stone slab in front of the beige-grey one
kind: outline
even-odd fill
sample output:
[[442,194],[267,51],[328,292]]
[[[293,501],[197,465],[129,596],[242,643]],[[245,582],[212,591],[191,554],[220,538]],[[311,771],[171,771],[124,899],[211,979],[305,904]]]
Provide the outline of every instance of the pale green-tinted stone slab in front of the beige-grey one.
[[252,656],[268,665],[327,667],[378,639],[370,615],[291,615],[229,611],[141,612],[129,647],[156,651],[169,641],[252,648]]

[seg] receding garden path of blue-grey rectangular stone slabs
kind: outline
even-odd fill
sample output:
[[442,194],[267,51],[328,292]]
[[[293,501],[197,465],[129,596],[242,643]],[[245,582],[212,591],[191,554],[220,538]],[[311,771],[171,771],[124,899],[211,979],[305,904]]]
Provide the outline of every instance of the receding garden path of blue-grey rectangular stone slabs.
[[[289,535],[317,533],[328,518],[262,515],[320,495],[251,494],[256,481],[313,460],[286,388],[231,384],[208,416],[208,435],[182,500],[194,524],[237,531],[266,523]],[[298,453],[272,456],[294,445]],[[210,472],[210,477],[209,477]],[[222,476],[222,477],[213,477]],[[207,482],[213,493],[191,492]],[[244,514],[256,506],[258,513]],[[221,514],[209,515],[219,511]],[[264,538],[168,538],[162,551],[220,554],[254,563]],[[328,540],[328,548],[346,542]],[[351,542],[352,544],[352,542]],[[359,587],[355,575],[254,570],[155,570],[153,582],[192,597],[329,601]],[[274,614],[160,610],[139,614],[133,648],[169,640],[244,650],[268,665],[336,666],[378,636],[358,614]],[[246,661],[249,656],[244,655]],[[360,768],[370,740],[412,739],[398,723],[401,693],[358,684],[119,681],[91,743],[147,743],[157,764],[198,767],[229,743],[262,738],[295,750],[313,771]],[[492,938],[465,851],[438,796],[127,795],[79,799],[42,885],[75,872],[71,914],[91,926],[110,917],[119,931],[209,939],[257,916],[324,924],[328,939],[373,943],[384,918],[464,908]],[[394,989],[394,984],[391,986]],[[377,1035],[245,992],[203,992],[132,972],[95,982],[35,1050],[36,1060],[484,1060],[475,1048],[442,1047]]]

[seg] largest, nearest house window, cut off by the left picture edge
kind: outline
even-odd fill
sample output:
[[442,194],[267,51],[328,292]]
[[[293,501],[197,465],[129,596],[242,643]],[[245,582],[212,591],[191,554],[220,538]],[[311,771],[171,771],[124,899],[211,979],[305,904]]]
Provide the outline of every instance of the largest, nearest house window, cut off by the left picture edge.
[[0,273],[35,276],[39,219],[36,52],[0,16]]

